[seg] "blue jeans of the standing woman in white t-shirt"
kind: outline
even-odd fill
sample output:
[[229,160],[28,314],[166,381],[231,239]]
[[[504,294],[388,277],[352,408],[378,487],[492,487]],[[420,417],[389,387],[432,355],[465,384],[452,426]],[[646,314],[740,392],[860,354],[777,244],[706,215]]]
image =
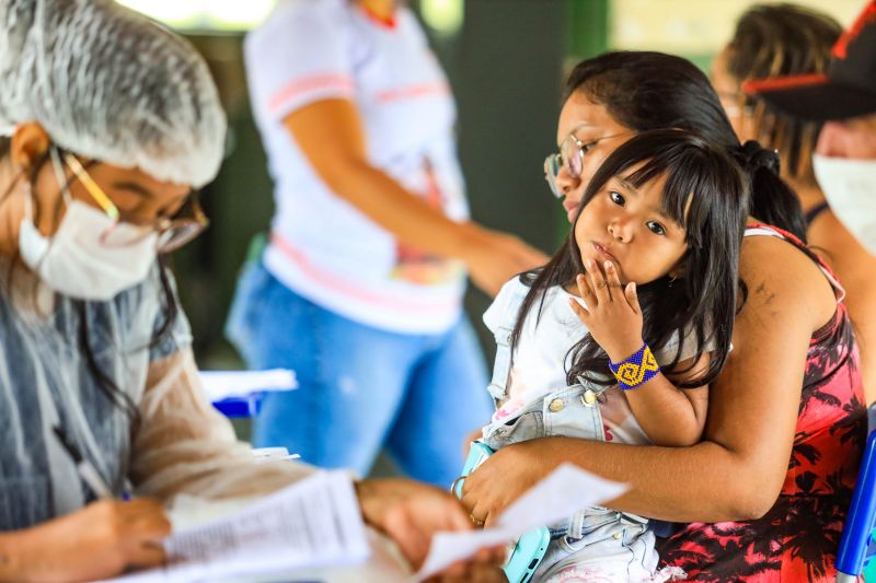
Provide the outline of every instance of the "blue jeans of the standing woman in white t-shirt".
[[286,446],[309,464],[365,476],[385,448],[406,475],[447,488],[462,467],[463,440],[492,415],[483,354],[464,317],[440,335],[380,330],[251,263],[226,333],[250,369],[296,372],[298,389],[265,399],[253,443]]

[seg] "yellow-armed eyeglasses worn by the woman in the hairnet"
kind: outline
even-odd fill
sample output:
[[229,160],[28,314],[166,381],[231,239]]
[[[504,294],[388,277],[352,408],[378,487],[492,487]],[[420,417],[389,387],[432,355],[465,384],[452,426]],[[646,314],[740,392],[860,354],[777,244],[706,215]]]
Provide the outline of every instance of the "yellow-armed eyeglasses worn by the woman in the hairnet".
[[[210,223],[200,207],[198,194],[193,190],[183,207],[173,217],[161,217],[151,224],[138,224],[126,221],[103,188],[85,171],[84,166],[69,152],[64,153],[64,162],[73,173],[97,206],[110,217],[114,224],[101,235],[101,243],[111,247],[135,245],[152,233],[158,234],[157,250],[160,254],[172,253],[198,236]],[[118,229],[120,223],[136,229]]]

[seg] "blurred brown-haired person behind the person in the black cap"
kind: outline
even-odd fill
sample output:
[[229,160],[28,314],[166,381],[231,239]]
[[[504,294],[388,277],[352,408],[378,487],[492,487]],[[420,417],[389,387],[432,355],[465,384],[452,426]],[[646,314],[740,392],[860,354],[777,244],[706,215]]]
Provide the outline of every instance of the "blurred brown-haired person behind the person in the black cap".
[[712,83],[740,141],[775,148],[782,177],[806,212],[809,245],[835,272],[855,326],[867,403],[876,400],[876,257],[830,210],[816,180],[812,153],[820,121],[776,110],[742,92],[751,79],[823,74],[842,27],[831,16],[795,4],[758,4],[746,11],[712,65]]

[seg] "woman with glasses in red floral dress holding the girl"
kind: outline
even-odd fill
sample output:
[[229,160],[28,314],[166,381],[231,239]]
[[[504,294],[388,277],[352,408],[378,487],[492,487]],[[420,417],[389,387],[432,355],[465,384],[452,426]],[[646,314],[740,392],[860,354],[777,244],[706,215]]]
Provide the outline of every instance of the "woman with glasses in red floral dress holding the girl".
[[[561,164],[546,173],[569,220],[601,163],[646,130],[694,132],[750,175],[731,349],[710,383],[695,445],[557,436],[509,444],[469,476],[463,504],[489,525],[572,462],[630,486],[612,509],[685,523],[658,550],[689,580],[832,581],[866,433],[858,355],[842,288],[802,242],[799,202],[779,179],[774,153],[739,144],[708,80],[677,57],[602,55],[578,65],[567,88]],[[587,535],[576,543],[587,545]],[[565,575],[576,580],[574,570]]]

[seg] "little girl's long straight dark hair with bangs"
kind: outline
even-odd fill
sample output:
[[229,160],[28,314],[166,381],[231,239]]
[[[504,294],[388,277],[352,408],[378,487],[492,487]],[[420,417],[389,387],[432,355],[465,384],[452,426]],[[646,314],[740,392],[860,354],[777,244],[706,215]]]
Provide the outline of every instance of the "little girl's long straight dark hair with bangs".
[[[585,271],[575,224],[593,197],[608,196],[603,187],[614,176],[623,177],[634,187],[666,176],[660,205],[684,229],[688,249],[680,264],[682,273],[675,282],[664,276],[637,285],[643,337],[655,349],[678,339],[671,362],[660,363],[667,370],[676,369],[684,345],[690,341],[696,346],[694,363],[705,352],[712,352],[708,369],[678,386],[693,388],[708,384],[721,372],[730,348],[748,179],[723,148],[683,130],[638,133],[602,163],[587,185],[566,244],[548,265],[520,276],[530,290],[518,313],[511,353],[537,302],[540,314],[549,289],[568,285]],[[591,335],[576,343],[569,355],[570,368],[566,371],[569,384],[579,376],[601,385],[615,384],[608,354]]]

